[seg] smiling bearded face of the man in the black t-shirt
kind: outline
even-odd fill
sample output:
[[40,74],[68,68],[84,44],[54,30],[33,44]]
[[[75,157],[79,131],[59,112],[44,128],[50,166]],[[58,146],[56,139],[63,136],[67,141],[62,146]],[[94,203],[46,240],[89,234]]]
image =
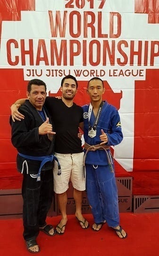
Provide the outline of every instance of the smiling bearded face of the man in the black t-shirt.
[[62,97],[66,100],[73,100],[77,92],[74,79],[66,78],[63,85],[60,87]]

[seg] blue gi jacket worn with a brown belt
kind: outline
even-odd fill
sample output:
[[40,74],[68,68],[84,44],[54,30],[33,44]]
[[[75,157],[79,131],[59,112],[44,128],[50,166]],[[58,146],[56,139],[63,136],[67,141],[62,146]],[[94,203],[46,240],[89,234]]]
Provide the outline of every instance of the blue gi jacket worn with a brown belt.
[[[96,128],[96,136],[90,138],[88,136],[89,131],[89,119],[88,110],[89,104],[83,106],[84,110],[84,140],[89,145],[100,144],[101,129],[108,136],[108,143],[106,145],[118,145],[123,140],[123,134],[121,130],[120,116],[117,109],[110,105],[108,102],[104,102],[100,119]],[[92,111],[90,117],[90,125],[93,126],[95,120],[94,113]],[[104,150],[89,151],[86,156],[85,163],[88,164],[98,164],[98,165],[108,165],[107,155]]]

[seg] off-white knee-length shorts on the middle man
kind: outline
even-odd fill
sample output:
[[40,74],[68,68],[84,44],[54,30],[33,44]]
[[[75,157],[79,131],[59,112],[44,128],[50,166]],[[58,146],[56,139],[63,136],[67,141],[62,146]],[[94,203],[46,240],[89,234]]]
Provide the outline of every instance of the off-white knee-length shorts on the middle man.
[[71,180],[73,188],[84,191],[84,152],[76,154],[58,154],[55,156],[59,160],[61,166],[61,175],[58,175],[58,164],[54,161],[54,191],[62,194],[67,191],[69,180]]

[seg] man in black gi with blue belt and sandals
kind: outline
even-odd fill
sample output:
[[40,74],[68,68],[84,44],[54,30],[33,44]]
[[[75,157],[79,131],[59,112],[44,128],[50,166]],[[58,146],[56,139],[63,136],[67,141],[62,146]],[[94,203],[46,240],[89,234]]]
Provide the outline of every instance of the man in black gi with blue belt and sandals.
[[[19,110],[25,115],[20,122],[11,123],[12,144],[17,148],[17,170],[23,173],[23,236],[29,252],[38,253],[36,242],[39,230],[54,236],[56,230],[46,224],[46,216],[53,200],[52,121],[43,106],[46,84],[33,79],[27,86],[27,100]],[[11,119],[10,119],[11,122]]]

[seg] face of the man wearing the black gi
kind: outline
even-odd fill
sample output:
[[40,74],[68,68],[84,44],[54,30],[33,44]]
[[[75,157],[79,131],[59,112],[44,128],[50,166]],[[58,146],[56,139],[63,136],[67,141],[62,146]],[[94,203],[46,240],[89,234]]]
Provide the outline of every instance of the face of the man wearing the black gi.
[[44,85],[31,85],[31,91],[26,92],[27,98],[35,109],[41,111],[46,99],[46,91]]

